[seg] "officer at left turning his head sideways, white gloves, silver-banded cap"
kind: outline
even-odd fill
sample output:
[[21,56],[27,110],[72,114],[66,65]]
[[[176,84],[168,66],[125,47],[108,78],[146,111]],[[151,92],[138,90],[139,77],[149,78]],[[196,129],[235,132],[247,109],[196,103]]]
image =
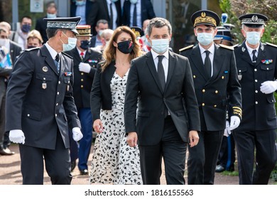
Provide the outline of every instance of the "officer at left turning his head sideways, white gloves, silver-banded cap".
[[[45,18],[48,42],[19,55],[6,93],[6,131],[19,144],[23,184],[43,184],[43,160],[53,184],[70,184],[69,136],[82,139],[72,94],[80,17]],[[67,23],[68,22],[68,23]]]

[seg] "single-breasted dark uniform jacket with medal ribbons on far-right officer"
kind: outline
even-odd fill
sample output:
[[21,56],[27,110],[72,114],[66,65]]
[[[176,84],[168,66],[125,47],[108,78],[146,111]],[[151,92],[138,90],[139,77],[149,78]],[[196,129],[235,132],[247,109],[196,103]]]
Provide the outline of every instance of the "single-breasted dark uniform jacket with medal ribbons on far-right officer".
[[261,83],[277,79],[276,45],[260,43],[256,63],[252,63],[245,42],[234,48],[244,115],[236,131],[276,129],[275,98],[273,93],[261,92]]

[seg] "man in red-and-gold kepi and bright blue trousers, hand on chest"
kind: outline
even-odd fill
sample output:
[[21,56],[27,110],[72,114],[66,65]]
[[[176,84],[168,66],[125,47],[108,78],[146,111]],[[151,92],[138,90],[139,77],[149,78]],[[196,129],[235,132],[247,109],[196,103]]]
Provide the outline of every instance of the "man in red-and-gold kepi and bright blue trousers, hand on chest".
[[[102,54],[89,48],[90,26],[77,26],[76,48],[66,51],[72,56],[74,69],[73,97],[77,107],[78,117],[82,125],[83,137],[79,144],[78,167],[81,175],[87,175],[87,160],[92,146],[92,113],[90,111],[90,91],[96,66]],[[70,151],[71,153],[72,151]]]

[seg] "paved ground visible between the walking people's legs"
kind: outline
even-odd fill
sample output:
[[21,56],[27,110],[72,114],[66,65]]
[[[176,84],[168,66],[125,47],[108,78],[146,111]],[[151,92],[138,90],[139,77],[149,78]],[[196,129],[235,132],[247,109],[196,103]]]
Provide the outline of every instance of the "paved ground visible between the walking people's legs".
[[[13,156],[0,155],[0,185],[20,185],[22,184],[22,177],[20,171],[20,157],[18,152],[18,145],[12,144],[11,151],[15,151]],[[89,155],[89,162],[92,160],[92,153]],[[89,163],[90,168],[90,163]],[[72,172],[72,185],[88,185],[88,176],[81,176],[78,168]],[[45,173],[45,184],[50,184],[50,178]],[[161,176],[161,184],[165,184],[164,173]],[[214,184],[216,185],[237,185],[239,184],[238,176],[224,176],[220,173],[215,174]]]

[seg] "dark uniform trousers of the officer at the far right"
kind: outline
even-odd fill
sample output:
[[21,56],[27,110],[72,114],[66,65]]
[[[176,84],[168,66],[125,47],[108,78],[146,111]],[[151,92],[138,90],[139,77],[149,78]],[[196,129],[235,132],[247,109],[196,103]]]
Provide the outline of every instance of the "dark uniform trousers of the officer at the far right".
[[277,160],[276,130],[234,131],[233,135],[237,146],[239,184],[266,185]]

